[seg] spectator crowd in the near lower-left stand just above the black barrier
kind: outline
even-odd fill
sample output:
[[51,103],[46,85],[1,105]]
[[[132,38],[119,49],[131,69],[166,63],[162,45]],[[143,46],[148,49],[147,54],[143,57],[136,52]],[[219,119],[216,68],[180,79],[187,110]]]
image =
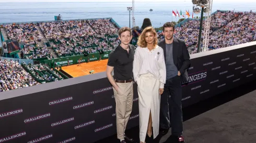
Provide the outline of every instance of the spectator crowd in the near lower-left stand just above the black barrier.
[[64,80],[65,77],[46,64],[26,64],[0,59],[0,92]]

